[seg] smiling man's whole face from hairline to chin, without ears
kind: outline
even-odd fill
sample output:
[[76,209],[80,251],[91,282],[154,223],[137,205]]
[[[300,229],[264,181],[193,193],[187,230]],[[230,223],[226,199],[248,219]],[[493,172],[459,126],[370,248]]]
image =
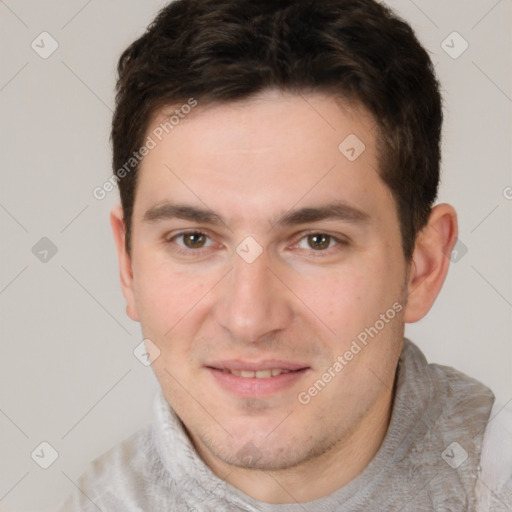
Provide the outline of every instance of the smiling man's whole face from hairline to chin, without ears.
[[143,160],[128,310],[206,457],[292,467],[389,401],[407,266],[375,131],[332,97],[265,93],[199,103]]

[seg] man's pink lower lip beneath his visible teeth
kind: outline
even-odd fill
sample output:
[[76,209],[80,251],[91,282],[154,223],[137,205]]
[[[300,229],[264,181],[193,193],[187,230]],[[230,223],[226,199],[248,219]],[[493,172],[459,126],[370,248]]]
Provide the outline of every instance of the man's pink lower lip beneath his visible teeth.
[[281,373],[275,377],[258,379],[256,377],[238,377],[230,372],[213,368],[207,368],[207,370],[222,388],[245,398],[269,396],[283,391],[295,384],[308,372],[308,368],[304,368],[303,370]]

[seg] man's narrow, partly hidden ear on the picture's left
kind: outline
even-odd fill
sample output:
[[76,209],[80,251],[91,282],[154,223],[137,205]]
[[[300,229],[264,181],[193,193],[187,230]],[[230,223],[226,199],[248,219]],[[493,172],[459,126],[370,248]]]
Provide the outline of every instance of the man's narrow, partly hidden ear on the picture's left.
[[112,226],[112,233],[116,242],[121,289],[126,300],[126,314],[135,322],[139,322],[133,286],[132,262],[130,255],[126,251],[126,226],[121,206],[112,208],[110,212],[110,225]]

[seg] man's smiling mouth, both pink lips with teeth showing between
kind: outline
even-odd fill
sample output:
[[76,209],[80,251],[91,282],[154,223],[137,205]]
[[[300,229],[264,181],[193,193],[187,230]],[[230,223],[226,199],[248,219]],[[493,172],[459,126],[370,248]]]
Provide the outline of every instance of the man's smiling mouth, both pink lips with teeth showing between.
[[241,397],[276,394],[295,384],[311,369],[286,361],[222,361],[205,367],[224,390]]

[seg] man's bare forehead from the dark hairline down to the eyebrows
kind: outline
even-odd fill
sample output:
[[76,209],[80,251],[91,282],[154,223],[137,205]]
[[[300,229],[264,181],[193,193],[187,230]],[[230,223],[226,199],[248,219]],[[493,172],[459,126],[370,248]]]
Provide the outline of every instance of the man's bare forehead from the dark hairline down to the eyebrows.
[[233,103],[167,107],[147,131],[155,147],[140,166],[135,209],[186,198],[270,217],[297,202],[369,204],[387,193],[376,131],[363,107],[322,94],[267,91]]

